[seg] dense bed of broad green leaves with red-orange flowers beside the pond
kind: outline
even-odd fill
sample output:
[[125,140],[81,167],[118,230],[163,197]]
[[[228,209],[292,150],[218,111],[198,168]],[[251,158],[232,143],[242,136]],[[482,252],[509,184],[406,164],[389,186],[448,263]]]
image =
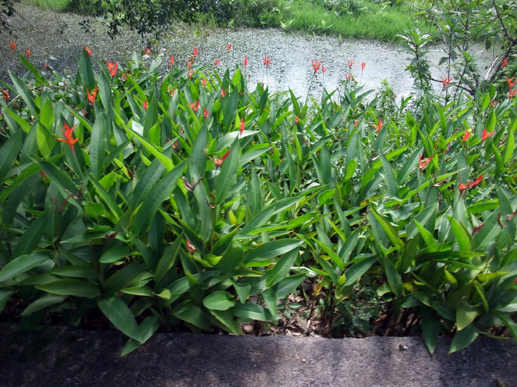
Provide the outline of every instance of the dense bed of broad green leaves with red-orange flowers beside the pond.
[[160,327],[274,324],[300,292],[327,333],[517,337],[515,98],[397,108],[349,80],[303,103],[195,49],[164,75],[145,54],[50,78],[20,57],[4,84],[4,315],[104,316],[128,353]]

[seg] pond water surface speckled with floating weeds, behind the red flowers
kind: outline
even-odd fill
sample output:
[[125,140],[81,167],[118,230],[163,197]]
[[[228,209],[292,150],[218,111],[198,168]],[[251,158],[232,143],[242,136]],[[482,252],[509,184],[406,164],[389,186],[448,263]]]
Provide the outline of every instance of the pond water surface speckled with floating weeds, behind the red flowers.
[[[20,17],[13,17],[11,23],[20,27],[14,36],[0,35],[0,79],[8,80],[7,70],[23,74],[25,68],[18,55],[25,56],[25,49],[31,50],[31,62],[39,70],[44,63],[51,65],[56,71],[75,72],[82,45],[93,50],[92,59],[105,61],[118,60],[127,62],[133,51],[141,52],[144,43],[140,36],[123,31],[115,39],[110,39],[100,23],[95,25],[94,34],[85,34],[80,28],[82,18],[74,14],[54,14],[37,7],[20,5]],[[63,34],[59,29],[63,28]],[[305,98],[310,94],[321,95],[321,90],[334,90],[341,87],[341,81],[352,73],[359,85],[366,90],[377,89],[381,80],[387,79],[394,92],[400,98],[413,92],[413,80],[407,71],[408,54],[401,51],[397,44],[382,43],[369,40],[338,39],[334,37],[303,36],[286,34],[279,29],[217,29],[197,31],[194,28],[176,26],[171,28],[168,38],[151,46],[151,59],[164,56],[163,68],[174,56],[179,66],[184,66],[186,59],[192,54],[192,47],[199,50],[198,63],[208,69],[216,68],[215,61],[220,60],[218,71],[226,67],[234,69],[236,63],[241,67],[244,58],[248,57],[247,75],[250,85],[264,83],[270,91],[291,89],[295,95]],[[9,46],[8,40],[17,42],[16,52]],[[226,45],[232,44],[230,52]],[[266,69],[264,58],[271,59]],[[430,57],[436,61],[440,53],[432,53]],[[149,61],[151,59],[146,59]],[[311,60],[321,60],[327,68],[325,74],[321,69],[314,75]],[[354,61],[352,68],[348,61]],[[361,71],[361,63],[366,63]],[[489,58],[482,58],[479,66],[487,66]],[[206,71],[206,70],[205,70]],[[441,79],[445,75],[433,70],[433,76]],[[312,79],[314,77],[314,79]],[[441,90],[438,83],[436,90]]]

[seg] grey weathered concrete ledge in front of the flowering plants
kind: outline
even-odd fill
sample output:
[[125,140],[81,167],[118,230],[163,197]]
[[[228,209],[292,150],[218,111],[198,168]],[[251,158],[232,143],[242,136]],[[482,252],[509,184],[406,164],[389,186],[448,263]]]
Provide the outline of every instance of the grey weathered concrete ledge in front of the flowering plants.
[[517,387],[517,344],[478,339],[430,356],[419,337],[159,333],[124,358],[115,331],[0,324],[0,387]]

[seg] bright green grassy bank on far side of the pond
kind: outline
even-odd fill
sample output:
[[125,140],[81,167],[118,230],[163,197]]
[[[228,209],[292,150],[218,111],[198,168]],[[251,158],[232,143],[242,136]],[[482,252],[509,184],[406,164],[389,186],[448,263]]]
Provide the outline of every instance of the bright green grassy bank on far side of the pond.
[[[26,1],[56,11],[74,12],[81,8],[70,0]],[[410,21],[406,4],[389,5],[372,0],[240,0],[229,4],[217,12],[208,9],[200,14],[200,24],[279,27],[307,34],[393,40]]]

